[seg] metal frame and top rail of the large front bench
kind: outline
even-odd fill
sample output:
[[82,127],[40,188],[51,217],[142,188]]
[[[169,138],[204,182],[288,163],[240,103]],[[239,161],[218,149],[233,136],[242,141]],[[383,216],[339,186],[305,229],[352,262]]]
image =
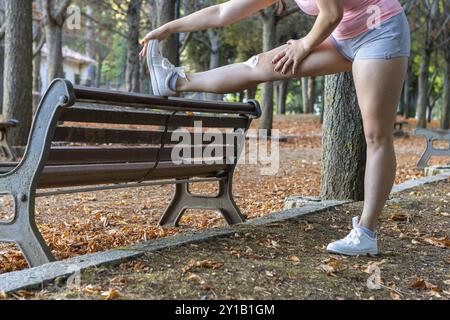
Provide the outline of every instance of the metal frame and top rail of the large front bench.
[[[20,250],[23,252],[26,260],[30,266],[39,266],[50,261],[54,261],[55,258],[51,253],[50,248],[47,246],[44,238],[42,237],[35,221],[35,198],[39,196],[48,196],[56,194],[86,192],[104,189],[117,189],[146,185],[164,185],[175,184],[175,192],[172,200],[167,207],[160,223],[164,226],[176,226],[187,209],[217,209],[225,217],[226,221],[230,224],[244,222],[245,218],[234,202],[232,195],[232,181],[233,173],[242,150],[236,149],[235,163],[227,166],[226,172],[221,176],[205,178],[205,179],[178,179],[178,180],[163,180],[152,181],[149,183],[123,183],[113,184],[110,186],[103,185],[99,187],[79,188],[79,189],[66,189],[50,192],[37,193],[38,180],[41,172],[43,171],[47,159],[49,157],[52,139],[55,134],[58,120],[60,119],[63,111],[70,108],[75,102],[83,99],[84,95],[95,94],[96,89],[87,88],[73,88],[72,84],[66,80],[56,79],[52,82],[49,89],[43,96],[40,106],[37,109],[36,116],[31,128],[27,147],[25,149],[24,156],[20,163],[6,174],[0,175],[0,193],[11,195],[14,199],[14,218],[9,222],[0,222],[0,241],[14,242]],[[114,94],[118,98],[123,98],[124,105],[125,100],[130,99],[132,94],[124,94],[123,96]],[[102,96],[108,98],[108,92]],[[179,108],[182,99],[164,99],[159,97],[136,95],[136,100],[145,99],[145,97],[155,99],[158,101],[158,106],[166,105],[167,110],[177,110]],[[126,98],[126,99],[125,99]],[[114,99],[114,98],[111,98]],[[202,102],[188,103],[188,100],[184,100],[184,109],[187,111],[203,111]],[[186,107],[191,104],[192,107]],[[204,102],[204,112],[211,109],[211,112],[220,113],[219,107],[217,110],[213,108],[212,102]],[[231,105],[231,104],[230,104]],[[250,106],[252,106],[250,108]],[[242,107],[242,104],[241,104]],[[242,115],[248,117],[248,127],[252,119],[258,118],[261,115],[261,109],[256,101],[251,101],[248,104],[249,109],[253,111],[242,112]],[[223,108],[223,107],[222,107]],[[239,106],[236,104],[235,114],[238,114]],[[245,141],[245,132],[241,132],[241,143]],[[239,148],[239,147],[238,147]],[[242,149],[242,148],[239,148]],[[218,181],[219,192],[217,196],[206,197],[193,195],[189,191],[189,184],[195,182],[204,181]]]

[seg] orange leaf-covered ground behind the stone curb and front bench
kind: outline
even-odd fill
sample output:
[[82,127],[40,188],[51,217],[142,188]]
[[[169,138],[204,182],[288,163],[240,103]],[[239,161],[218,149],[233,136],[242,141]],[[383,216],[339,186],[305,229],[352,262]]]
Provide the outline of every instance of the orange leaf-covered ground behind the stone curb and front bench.
[[[436,125],[433,123],[431,126]],[[235,176],[236,201],[250,219],[282,210],[285,198],[290,195],[319,194],[322,139],[319,119],[312,116],[277,117],[274,127],[282,134],[297,135],[280,146],[278,174],[263,176],[258,165],[241,165]],[[411,121],[407,130],[413,127]],[[423,176],[423,171],[416,168],[416,163],[424,143],[424,139],[418,137],[396,139],[396,183]],[[433,163],[447,161],[438,158]],[[201,184],[193,186],[193,191],[211,191],[214,187]],[[158,228],[158,220],[170,200],[172,190],[170,186],[146,187],[38,198],[36,218],[58,259],[224,224],[217,213],[193,210],[183,218],[180,228]],[[0,199],[0,221],[1,211],[7,207],[8,199]],[[0,244],[0,273],[26,267],[25,260],[15,246]]]

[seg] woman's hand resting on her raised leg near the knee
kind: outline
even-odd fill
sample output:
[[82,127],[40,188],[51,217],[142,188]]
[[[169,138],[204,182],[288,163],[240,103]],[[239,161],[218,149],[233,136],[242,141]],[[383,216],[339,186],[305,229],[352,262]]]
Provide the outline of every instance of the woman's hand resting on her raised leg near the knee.
[[289,40],[288,46],[275,56],[272,64],[275,64],[275,72],[287,74],[291,68],[292,74],[298,72],[301,62],[311,53],[311,49],[304,40]]

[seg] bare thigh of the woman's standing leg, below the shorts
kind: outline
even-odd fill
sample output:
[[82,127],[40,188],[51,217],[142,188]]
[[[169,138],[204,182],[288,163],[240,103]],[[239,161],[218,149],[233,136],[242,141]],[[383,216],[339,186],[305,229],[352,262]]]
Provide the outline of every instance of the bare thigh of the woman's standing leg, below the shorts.
[[358,102],[366,135],[392,136],[408,58],[356,60],[353,63]]

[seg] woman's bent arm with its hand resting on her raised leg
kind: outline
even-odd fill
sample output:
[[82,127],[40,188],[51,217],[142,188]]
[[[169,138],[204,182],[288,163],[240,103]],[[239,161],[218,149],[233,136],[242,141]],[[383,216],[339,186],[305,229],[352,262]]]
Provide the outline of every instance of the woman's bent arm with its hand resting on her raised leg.
[[297,73],[300,63],[319,44],[324,42],[336,29],[344,14],[343,0],[316,0],[319,16],[311,31],[301,40],[290,40],[289,47],[280,52],[272,61],[275,71],[287,74],[292,68]]

